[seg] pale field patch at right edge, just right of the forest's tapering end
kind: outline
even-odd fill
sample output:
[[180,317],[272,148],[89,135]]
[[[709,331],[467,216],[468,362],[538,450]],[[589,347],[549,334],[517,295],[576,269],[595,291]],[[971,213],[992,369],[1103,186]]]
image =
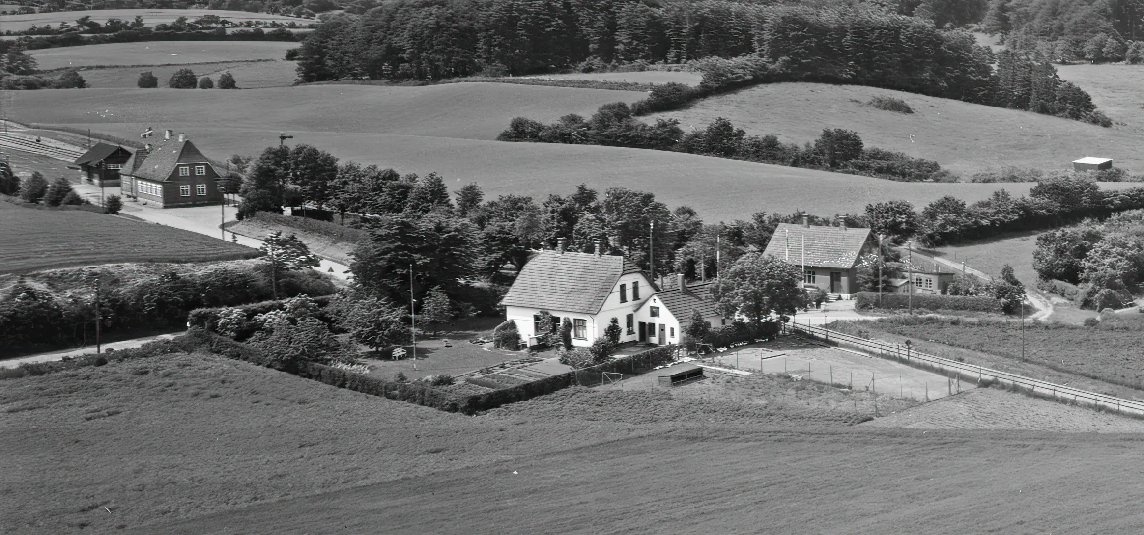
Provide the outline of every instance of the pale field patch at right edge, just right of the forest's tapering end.
[[1093,104],[1104,110],[1112,120],[1125,122],[1135,131],[1144,130],[1139,95],[1144,85],[1144,65],[1077,64],[1056,67],[1062,79],[1085,89],[1093,96]]

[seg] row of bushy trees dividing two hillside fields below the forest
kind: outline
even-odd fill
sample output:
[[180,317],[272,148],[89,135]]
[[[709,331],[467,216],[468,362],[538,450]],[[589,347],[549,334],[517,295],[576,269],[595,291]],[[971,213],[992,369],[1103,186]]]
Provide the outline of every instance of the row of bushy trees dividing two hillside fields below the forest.
[[[649,101],[654,99],[659,91],[670,91],[673,86],[675,85],[668,83],[657,87]],[[645,106],[646,102],[642,101],[635,107]],[[935,161],[901,152],[865,147],[861,137],[852,130],[827,128],[813,145],[808,143],[800,147],[781,143],[773,135],[747,136],[725,118],[717,118],[710,125],[689,133],[684,133],[680,128],[680,121],[675,119],[658,119],[654,125],[648,125],[636,120],[631,110],[622,102],[601,106],[587,120],[577,114],[567,114],[555,123],[543,125],[518,117],[513,119],[509,128],[498,139],[688,152],[903,182],[958,179],[956,175],[942,170]]]

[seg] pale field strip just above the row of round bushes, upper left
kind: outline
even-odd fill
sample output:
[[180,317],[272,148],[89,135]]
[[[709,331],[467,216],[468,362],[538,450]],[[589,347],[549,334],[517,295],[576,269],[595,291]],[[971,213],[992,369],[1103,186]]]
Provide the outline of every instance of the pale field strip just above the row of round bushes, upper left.
[[45,48],[31,50],[29,54],[40,62],[40,69],[51,70],[90,65],[130,66],[281,59],[286,56],[286,50],[296,47],[296,42],[279,41],[145,41]]

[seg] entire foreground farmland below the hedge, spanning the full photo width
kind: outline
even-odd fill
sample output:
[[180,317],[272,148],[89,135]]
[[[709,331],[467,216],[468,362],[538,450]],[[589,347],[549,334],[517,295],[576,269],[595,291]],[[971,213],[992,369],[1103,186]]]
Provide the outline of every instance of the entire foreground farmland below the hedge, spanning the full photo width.
[[[1062,415],[1094,426],[1001,391],[988,392],[1000,408],[955,396],[875,421],[888,428],[582,388],[472,417],[209,354],[110,360],[0,381],[13,466],[0,533],[962,534],[974,511],[974,532],[1127,534],[1144,521],[1123,493],[1139,434],[1020,431],[1064,430]],[[948,429],[964,426],[962,405],[995,430]],[[1139,426],[1110,418],[1097,418],[1107,431]]]

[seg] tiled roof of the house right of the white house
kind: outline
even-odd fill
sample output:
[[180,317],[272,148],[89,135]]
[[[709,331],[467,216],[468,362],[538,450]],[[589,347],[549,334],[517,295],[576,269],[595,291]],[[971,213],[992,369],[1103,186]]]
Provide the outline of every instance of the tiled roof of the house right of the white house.
[[779,223],[763,254],[801,264],[803,237],[807,239],[807,265],[837,269],[853,268],[863,246],[871,238],[869,229],[843,230],[841,226]]

